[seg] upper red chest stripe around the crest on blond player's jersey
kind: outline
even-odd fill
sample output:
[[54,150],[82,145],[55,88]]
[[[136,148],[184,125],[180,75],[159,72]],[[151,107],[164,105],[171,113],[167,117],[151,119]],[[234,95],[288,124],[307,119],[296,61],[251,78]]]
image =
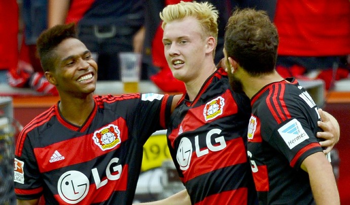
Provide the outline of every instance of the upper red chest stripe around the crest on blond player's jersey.
[[222,117],[230,116],[238,112],[236,101],[233,99],[230,90],[227,90],[225,93],[223,93],[221,97],[225,99],[224,100],[225,105],[222,109],[222,113],[220,115],[218,114],[217,116],[209,118],[207,120],[204,118],[205,114],[203,113],[206,104],[203,104],[199,107],[191,108],[187,112],[186,116],[182,120],[179,127],[176,129],[173,129],[171,134],[169,135],[168,139],[171,142],[171,146],[174,147],[173,143],[179,135],[180,127],[182,127],[183,133],[188,131],[193,131],[207,123],[210,123],[211,121],[214,121]]

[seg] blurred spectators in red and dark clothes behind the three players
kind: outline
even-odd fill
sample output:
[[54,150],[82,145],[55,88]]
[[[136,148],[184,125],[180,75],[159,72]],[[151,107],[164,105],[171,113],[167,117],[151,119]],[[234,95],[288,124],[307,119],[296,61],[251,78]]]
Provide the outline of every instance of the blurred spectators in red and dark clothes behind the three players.
[[[188,0],[185,0],[185,2]],[[142,80],[163,92],[184,92],[163,53],[159,12],[180,0],[6,0],[0,2],[0,83],[57,95],[37,57],[40,33],[75,22],[98,64],[98,80],[120,80],[119,52],[142,53]],[[279,34],[277,71],[284,77],[323,79],[326,89],[349,78],[350,1],[208,0],[219,10],[215,60],[223,58],[224,29],[236,7],[265,10]]]

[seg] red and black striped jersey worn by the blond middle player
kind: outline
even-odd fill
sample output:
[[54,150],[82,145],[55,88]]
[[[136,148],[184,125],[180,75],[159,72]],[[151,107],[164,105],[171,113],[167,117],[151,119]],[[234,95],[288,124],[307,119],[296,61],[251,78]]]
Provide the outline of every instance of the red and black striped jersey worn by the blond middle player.
[[256,192],[247,157],[251,108],[219,68],[193,102],[183,96],[170,117],[167,140],[192,204],[253,204]]

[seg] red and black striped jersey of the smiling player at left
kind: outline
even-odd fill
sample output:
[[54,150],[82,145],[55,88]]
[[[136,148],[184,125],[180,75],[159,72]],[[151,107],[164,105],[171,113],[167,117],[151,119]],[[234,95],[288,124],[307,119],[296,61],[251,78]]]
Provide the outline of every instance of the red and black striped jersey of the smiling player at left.
[[95,96],[81,127],[57,105],[22,130],[15,153],[19,199],[44,195],[47,204],[131,204],[141,170],[143,145],[165,129],[172,96]]

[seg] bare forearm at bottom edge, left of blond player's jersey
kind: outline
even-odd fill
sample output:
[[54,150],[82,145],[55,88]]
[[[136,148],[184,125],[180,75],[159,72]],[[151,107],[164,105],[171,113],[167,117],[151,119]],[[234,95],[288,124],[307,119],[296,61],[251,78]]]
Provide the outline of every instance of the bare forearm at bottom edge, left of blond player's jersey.
[[191,205],[191,199],[187,193],[187,190],[184,189],[184,190],[182,190],[174,195],[171,195],[165,199],[162,199],[162,200],[133,204],[133,205],[164,205],[164,204],[166,204],[166,205]]

